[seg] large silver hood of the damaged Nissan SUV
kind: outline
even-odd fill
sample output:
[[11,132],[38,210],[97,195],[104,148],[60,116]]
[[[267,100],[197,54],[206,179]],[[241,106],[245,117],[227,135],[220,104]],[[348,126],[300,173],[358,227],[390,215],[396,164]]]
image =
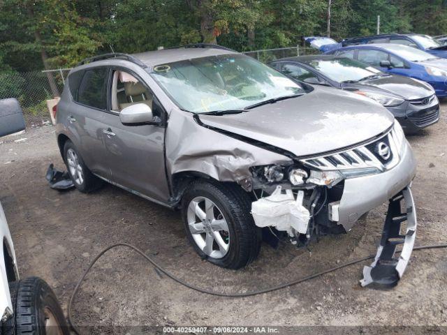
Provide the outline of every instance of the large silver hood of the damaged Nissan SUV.
[[327,87],[315,87],[304,96],[241,114],[199,118],[207,126],[273,145],[295,156],[357,144],[386,131],[394,122],[393,115],[371,99]]

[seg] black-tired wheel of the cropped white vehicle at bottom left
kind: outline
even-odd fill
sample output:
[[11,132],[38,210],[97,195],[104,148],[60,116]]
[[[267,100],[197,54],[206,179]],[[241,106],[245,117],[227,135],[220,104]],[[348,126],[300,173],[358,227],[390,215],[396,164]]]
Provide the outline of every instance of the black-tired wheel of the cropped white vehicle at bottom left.
[[1,329],[10,335],[68,335],[68,325],[50,286],[41,278],[29,277],[9,284],[13,318]]

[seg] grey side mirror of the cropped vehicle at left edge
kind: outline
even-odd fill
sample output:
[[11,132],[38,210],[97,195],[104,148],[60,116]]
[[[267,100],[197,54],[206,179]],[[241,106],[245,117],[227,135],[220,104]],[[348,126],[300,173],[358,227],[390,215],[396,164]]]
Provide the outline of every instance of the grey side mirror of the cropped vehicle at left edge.
[[25,128],[22,107],[15,98],[0,100],[0,137],[18,133]]

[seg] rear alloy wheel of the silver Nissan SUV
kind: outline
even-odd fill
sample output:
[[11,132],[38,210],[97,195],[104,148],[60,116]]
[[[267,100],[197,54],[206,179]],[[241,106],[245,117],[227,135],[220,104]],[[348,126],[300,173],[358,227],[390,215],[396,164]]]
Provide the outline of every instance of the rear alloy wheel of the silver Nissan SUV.
[[67,165],[68,174],[73,180],[73,184],[83,193],[95,191],[103,184],[103,181],[92,174],[82,161],[73,142],[67,140],[64,145],[64,161]]

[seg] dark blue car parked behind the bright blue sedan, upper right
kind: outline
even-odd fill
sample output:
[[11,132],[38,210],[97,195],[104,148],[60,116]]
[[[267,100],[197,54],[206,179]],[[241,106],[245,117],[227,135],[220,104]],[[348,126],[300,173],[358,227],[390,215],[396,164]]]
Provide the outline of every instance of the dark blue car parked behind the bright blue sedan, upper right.
[[[414,47],[433,54],[436,57],[447,58],[447,45],[432,36],[421,34],[382,34],[374,36],[346,38],[342,40],[344,47],[360,44],[393,43]],[[326,51],[326,50],[325,50]]]

